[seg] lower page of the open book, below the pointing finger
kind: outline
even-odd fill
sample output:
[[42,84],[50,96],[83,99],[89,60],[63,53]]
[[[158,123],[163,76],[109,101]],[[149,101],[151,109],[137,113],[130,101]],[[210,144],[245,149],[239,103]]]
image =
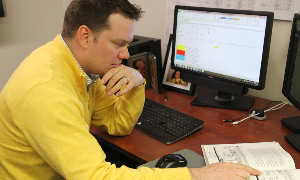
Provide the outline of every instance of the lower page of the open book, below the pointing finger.
[[271,170],[271,171],[262,171],[260,176],[251,175],[248,180],[267,180],[267,179],[276,179],[276,180],[299,180],[300,179],[300,170]]

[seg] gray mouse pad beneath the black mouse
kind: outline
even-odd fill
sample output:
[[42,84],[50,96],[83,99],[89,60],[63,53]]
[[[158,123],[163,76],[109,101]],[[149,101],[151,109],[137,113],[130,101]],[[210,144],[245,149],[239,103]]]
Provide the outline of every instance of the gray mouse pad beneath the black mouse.
[[[182,155],[186,160],[187,160],[187,166],[188,168],[198,168],[198,167],[203,167],[205,166],[205,161],[204,161],[204,158],[197,154],[196,152],[193,152],[192,150],[189,150],[189,149],[183,149],[183,150],[180,150],[178,152],[174,152],[174,153],[170,153],[170,154],[180,154]],[[150,167],[150,168],[154,168],[155,167],[155,164],[157,163],[157,161],[159,160],[160,158],[156,159],[156,160],[153,160],[153,161],[150,161],[146,164],[142,164],[140,165],[139,167]],[[139,168],[137,167],[137,168]]]

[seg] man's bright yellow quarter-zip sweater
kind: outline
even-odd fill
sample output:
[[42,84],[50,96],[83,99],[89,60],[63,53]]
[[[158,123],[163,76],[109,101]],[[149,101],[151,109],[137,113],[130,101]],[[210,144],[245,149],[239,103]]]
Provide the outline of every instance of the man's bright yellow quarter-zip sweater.
[[59,35],[33,51],[0,93],[0,179],[190,179],[187,168],[137,170],[105,162],[91,123],[131,133],[144,86],[117,98],[86,76]]

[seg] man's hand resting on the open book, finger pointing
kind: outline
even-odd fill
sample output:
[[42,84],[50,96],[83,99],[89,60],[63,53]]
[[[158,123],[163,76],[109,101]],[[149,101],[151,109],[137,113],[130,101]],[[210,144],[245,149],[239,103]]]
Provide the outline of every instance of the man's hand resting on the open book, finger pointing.
[[213,163],[202,168],[189,169],[192,180],[242,180],[250,174],[259,176],[261,172],[249,166],[231,162]]

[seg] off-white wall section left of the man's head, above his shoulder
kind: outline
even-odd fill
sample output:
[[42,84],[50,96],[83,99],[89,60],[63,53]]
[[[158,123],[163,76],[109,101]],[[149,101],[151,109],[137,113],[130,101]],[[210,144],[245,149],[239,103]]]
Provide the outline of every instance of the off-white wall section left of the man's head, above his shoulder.
[[24,58],[61,32],[64,16],[61,0],[5,0],[5,6],[6,17],[0,18],[0,89]]

